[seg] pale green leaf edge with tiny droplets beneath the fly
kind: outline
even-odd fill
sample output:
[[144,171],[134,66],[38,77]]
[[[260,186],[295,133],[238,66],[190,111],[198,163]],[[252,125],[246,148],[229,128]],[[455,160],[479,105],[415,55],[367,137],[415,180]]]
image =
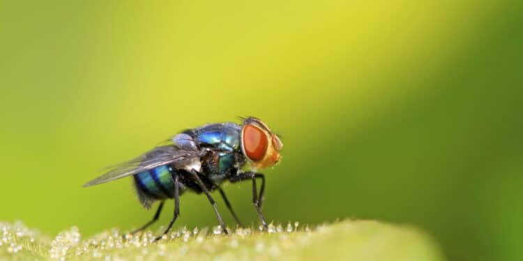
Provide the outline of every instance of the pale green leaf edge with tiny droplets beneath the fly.
[[0,260],[444,260],[432,237],[412,226],[378,221],[342,221],[315,228],[298,223],[268,232],[197,228],[169,233],[121,235],[113,229],[83,239],[78,228],[54,239],[21,223],[0,223]]

